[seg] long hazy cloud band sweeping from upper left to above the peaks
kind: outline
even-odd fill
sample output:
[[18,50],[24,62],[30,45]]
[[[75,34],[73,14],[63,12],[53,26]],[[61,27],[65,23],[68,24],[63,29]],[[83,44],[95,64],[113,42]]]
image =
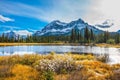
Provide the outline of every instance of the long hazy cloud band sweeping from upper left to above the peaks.
[[82,15],[86,12],[86,6],[88,6],[86,2],[89,0],[52,1],[52,7],[48,6],[47,8],[41,8],[40,6],[31,6],[18,2],[6,1],[0,3],[0,10],[3,13],[36,18],[47,22],[51,22],[53,20],[69,22],[71,20],[82,17]]

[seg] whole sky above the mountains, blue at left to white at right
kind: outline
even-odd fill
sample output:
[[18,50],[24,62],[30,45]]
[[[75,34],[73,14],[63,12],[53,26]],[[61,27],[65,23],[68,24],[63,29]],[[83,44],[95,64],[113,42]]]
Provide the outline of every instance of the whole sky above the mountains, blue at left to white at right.
[[[120,29],[119,0],[0,0],[0,33],[10,30],[32,33],[53,20],[70,22],[82,18],[89,24],[110,19]],[[114,6],[113,6],[114,5]],[[112,7],[111,7],[112,6]]]

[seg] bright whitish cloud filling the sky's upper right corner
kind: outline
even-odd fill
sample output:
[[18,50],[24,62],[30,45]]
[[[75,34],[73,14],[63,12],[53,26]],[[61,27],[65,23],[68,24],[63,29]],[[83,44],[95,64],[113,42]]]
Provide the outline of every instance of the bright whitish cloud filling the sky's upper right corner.
[[84,20],[92,25],[103,23],[110,19],[114,26],[106,28],[108,31],[117,31],[120,29],[120,0],[91,0],[92,4],[88,8]]

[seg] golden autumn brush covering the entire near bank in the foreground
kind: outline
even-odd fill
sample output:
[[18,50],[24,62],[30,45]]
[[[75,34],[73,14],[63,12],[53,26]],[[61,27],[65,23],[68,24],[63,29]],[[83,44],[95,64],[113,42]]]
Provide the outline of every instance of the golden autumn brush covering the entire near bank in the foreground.
[[119,70],[90,54],[0,56],[0,80],[119,80]]

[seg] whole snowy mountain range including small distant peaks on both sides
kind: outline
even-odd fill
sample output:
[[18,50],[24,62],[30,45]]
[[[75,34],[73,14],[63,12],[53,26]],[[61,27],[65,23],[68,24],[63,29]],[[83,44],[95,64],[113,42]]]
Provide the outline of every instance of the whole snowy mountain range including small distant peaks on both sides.
[[[104,23],[100,25],[95,25],[95,26],[89,25],[82,19],[71,21],[70,23],[65,23],[59,20],[55,20],[49,23],[48,25],[46,25],[43,29],[37,30],[36,32],[34,32],[33,35],[36,35],[36,36],[70,35],[72,29],[77,29],[78,31],[83,32],[86,27],[88,27],[89,30],[92,29],[94,34],[100,34],[104,31],[96,28],[96,26],[100,28],[108,28],[113,25],[114,24],[109,20],[106,20]],[[120,30],[118,30],[117,32],[120,33]],[[16,34],[13,31],[10,31],[6,33],[6,35],[17,36],[18,34]]]

